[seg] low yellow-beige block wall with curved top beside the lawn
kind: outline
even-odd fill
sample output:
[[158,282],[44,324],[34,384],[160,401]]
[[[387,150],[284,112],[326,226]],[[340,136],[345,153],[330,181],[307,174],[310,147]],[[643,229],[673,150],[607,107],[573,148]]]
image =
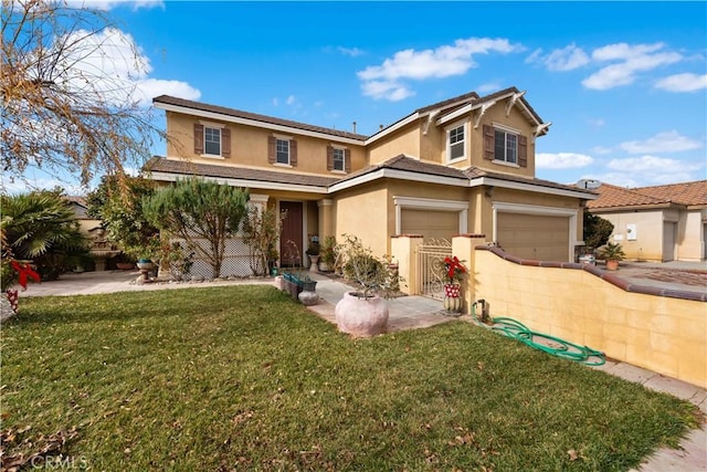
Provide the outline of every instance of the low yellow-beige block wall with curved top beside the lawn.
[[479,247],[455,255],[468,261],[469,297],[488,301],[492,316],[707,387],[707,303],[626,292],[579,264],[521,265]]

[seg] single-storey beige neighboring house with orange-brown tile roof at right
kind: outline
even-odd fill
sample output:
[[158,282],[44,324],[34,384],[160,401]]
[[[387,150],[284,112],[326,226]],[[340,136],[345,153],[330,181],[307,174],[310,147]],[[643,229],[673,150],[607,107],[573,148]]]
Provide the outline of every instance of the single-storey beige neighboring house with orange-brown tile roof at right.
[[707,259],[707,180],[622,188],[602,183],[587,208],[614,225],[610,239],[627,259],[704,261]]

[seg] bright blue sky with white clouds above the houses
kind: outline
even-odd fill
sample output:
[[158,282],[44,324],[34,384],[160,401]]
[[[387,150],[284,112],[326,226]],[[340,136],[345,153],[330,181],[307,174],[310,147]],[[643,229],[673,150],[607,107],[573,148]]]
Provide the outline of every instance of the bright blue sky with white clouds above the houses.
[[147,101],[357,122],[370,135],[434,102],[516,86],[552,122],[538,178],[707,178],[707,2],[91,4],[145,56]]

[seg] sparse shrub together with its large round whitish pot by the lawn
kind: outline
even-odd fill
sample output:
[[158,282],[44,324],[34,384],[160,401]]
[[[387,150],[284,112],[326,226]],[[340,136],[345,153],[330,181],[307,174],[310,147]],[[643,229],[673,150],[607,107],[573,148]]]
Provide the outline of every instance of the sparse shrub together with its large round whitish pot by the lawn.
[[372,255],[370,249],[354,235],[344,234],[340,247],[344,256],[344,276],[355,282],[358,290],[346,292],[336,304],[339,331],[357,337],[369,337],[386,332],[388,303],[393,284],[398,282],[390,266]]

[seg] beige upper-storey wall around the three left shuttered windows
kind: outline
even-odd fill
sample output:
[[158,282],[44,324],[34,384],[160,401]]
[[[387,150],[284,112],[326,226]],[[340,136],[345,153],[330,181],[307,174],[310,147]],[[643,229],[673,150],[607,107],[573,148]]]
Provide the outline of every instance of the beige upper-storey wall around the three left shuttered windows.
[[[366,167],[367,155],[363,146],[340,145],[329,139],[319,139],[292,133],[275,133],[297,140],[297,166],[273,165],[267,161],[267,138],[274,133],[253,126],[222,123],[231,130],[231,157],[214,158],[194,154],[193,125],[200,118],[167,112],[167,133],[171,139],[167,143],[167,157],[186,158],[194,162],[224,166],[262,167],[278,171],[296,171],[341,177],[340,172],[327,170],[327,146],[336,144],[351,150],[351,171]],[[204,123],[219,123],[209,122]]]

